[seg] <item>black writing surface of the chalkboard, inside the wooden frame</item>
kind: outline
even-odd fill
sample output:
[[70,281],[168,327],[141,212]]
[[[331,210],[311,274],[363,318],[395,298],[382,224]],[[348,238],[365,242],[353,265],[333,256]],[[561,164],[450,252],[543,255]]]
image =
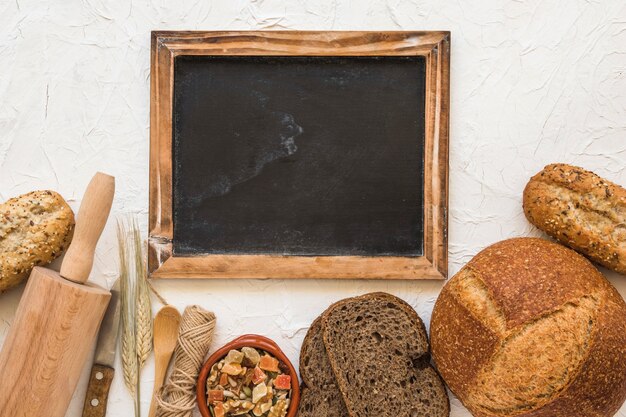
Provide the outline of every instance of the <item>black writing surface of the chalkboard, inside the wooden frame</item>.
[[181,56],[174,253],[422,255],[423,57]]

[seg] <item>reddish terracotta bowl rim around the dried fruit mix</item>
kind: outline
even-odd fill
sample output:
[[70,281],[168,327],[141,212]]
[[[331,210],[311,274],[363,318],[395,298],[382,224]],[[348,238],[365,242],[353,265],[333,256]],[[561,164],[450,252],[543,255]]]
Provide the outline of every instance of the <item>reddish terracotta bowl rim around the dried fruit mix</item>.
[[202,417],[211,417],[209,406],[206,400],[206,381],[211,372],[211,367],[225,357],[231,349],[241,349],[242,347],[249,346],[257,349],[264,350],[274,356],[276,359],[287,365],[289,368],[289,375],[291,376],[291,399],[289,403],[289,411],[287,411],[287,417],[294,417],[298,411],[298,403],[300,402],[300,383],[298,382],[298,374],[293,367],[287,356],[283,353],[278,345],[264,336],[256,334],[246,334],[230,343],[227,343],[222,348],[218,349],[215,353],[209,356],[209,359],[204,363],[202,370],[200,370],[200,376],[198,377],[198,384],[196,387],[196,393],[198,396],[198,408]]

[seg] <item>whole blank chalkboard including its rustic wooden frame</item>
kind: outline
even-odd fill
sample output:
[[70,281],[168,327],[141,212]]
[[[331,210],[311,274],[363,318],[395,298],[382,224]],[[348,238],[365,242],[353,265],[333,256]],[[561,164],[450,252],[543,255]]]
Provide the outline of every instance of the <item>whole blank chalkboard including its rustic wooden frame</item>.
[[151,278],[444,278],[448,32],[153,32]]

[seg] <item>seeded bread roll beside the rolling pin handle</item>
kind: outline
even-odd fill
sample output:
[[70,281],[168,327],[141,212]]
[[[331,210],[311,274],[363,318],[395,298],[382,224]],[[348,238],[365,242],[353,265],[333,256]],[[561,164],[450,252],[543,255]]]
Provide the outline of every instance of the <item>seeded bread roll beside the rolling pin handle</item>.
[[54,191],[33,191],[0,204],[0,293],[47,265],[70,244],[74,213]]

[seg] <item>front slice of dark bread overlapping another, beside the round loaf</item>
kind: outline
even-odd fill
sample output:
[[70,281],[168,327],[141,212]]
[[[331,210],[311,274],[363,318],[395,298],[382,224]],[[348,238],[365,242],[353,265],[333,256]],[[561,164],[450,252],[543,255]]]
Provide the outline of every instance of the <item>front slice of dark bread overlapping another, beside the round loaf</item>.
[[326,311],[322,329],[350,417],[450,415],[426,328],[410,305],[386,293],[349,298]]

